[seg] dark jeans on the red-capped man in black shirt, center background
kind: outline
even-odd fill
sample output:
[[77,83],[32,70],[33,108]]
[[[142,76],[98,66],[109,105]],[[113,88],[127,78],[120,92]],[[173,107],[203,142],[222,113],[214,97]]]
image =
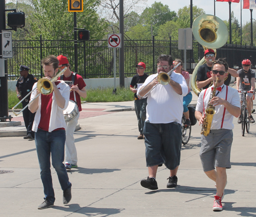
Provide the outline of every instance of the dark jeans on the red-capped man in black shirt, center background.
[[143,134],[144,122],[146,120],[146,98],[134,101],[134,108],[138,119],[138,127],[140,134]]

